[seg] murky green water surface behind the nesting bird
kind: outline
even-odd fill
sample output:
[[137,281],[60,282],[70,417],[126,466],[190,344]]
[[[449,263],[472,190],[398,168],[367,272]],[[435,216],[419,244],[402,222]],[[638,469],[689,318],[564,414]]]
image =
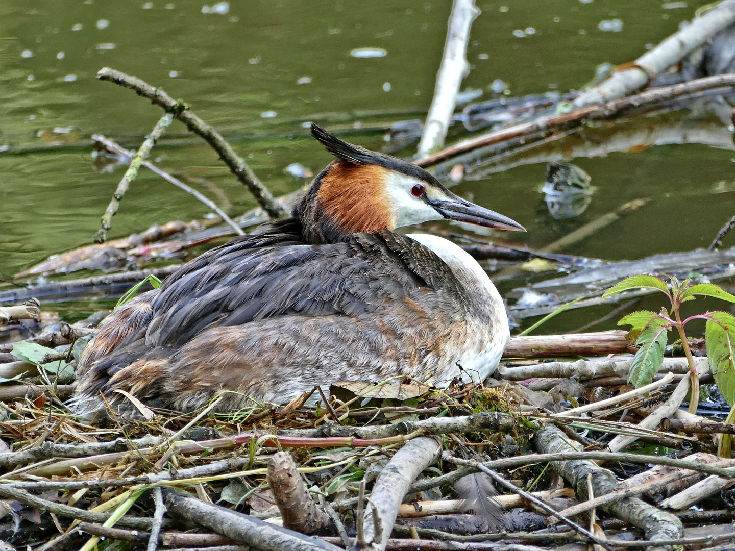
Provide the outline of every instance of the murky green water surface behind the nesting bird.
[[[472,71],[463,87],[481,88],[483,98],[491,98],[495,79],[506,82],[513,96],[579,87],[596,65],[634,60],[706,1],[477,4],[482,15],[473,25]],[[96,168],[89,136],[101,133],[135,147],[161,115],[131,91],[98,82],[99,68],[135,74],[184,98],[280,195],[303,183],[284,173],[287,165],[300,162],[316,173],[329,161],[306,137],[304,121],[353,128],[348,139],[380,148],[385,126],[423,117],[450,7],[451,1],[437,0],[0,3],[0,147],[7,149],[0,153],[0,278],[90,242],[123,170]],[[619,27],[617,21],[619,31],[600,30]],[[353,57],[356,48],[387,54]],[[529,152],[509,170],[470,175],[455,191],[523,223],[528,234],[503,237],[531,248],[625,201],[653,198],[563,251],[610,260],[706,245],[733,215],[735,153],[725,123],[659,118],[589,132],[587,143],[571,137],[561,149]],[[463,133],[453,130],[455,137]],[[157,165],[206,178],[215,187],[199,189],[229,206],[232,215],[254,206],[183,126],[174,122],[168,137],[151,155]],[[546,162],[559,155],[576,156],[597,187],[584,215],[561,222],[545,215],[538,192]],[[143,172],[110,236],[206,214],[189,195]],[[575,328],[605,311],[559,317],[556,328]]]

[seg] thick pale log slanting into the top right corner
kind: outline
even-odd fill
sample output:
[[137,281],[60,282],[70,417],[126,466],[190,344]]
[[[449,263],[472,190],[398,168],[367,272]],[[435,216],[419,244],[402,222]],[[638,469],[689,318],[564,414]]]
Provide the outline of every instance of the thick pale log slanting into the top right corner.
[[725,0],[714,10],[696,18],[691,24],[668,37],[659,46],[647,51],[633,63],[626,64],[628,68],[614,72],[606,81],[581,93],[573,101],[574,107],[601,104],[644,87],[654,76],[683,60],[690,52],[733,23],[735,23],[735,0]]

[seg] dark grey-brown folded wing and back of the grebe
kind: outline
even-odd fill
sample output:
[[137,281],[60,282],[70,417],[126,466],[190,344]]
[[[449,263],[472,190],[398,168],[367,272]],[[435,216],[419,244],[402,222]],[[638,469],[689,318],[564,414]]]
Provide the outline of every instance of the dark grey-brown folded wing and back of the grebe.
[[[440,289],[442,292],[426,293]],[[421,297],[418,302],[414,300],[416,293]],[[442,321],[445,326],[462,319],[471,303],[449,267],[428,248],[402,234],[355,234],[347,242],[310,245],[303,242],[297,220],[271,223],[259,228],[257,234],[204,253],[169,276],[160,289],[115,311],[82,357],[78,392],[82,398],[99,391],[107,394],[112,390],[108,388],[110,378],[129,367],[126,373],[132,374],[130,381],[133,375],[137,377],[130,390],[143,389],[148,381],[146,397],[160,395],[156,385],[162,384],[163,375],[157,375],[162,370],[169,370],[165,376],[171,378],[171,369],[194,359],[194,364],[204,369],[211,363],[201,356],[202,350],[212,345],[212,355],[224,353],[229,349],[218,348],[218,342],[259,331],[268,333],[261,334],[258,342],[275,339],[275,344],[283,337],[292,343],[289,346],[300,342],[299,346],[304,346],[304,350],[298,349],[301,353],[315,345],[309,342],[329,341],[326,334],[317,337],[313,333],[317,326],[321,329],[316,331],[336,331],[337,327],[348,331],[340,334],[340,342],[349,331],[369,331],[362,341],[359,334],[354,335],[358,346],[365,347],[374,339],[382,353],[392,353],[381,334],[384,330],[379,329],[380,318],[367,325],[356,320],[395,301],[401,302],[398,311],[415,316],[412,319],[426,318],[423,308],[431,305],[432,311],[448,314]],[[304,323],[298,323],[300,317],[305,318]],[[327,322],[339,318],[355,320],[348,325],[357,329]],[[263,325],[279,319],[284,320],[280,326]],[[325,323],[315,325],[319,319]],[[245,330],[251,325],[252,330]],[[232,327],[229,333],[218,332],[218,328],[228,327]],[[429,353],[413,340],[411,348],[415,361]],[[226,364],[247,364],[248,351],[236,349],[237,342],[232,342],[232,356]],[[221,359],[217,361],[220,365]],[[339,363],[336,357],[330,361]],[[395,361],[401,364],[400,359]],[[171,394],[171,389],[166,392]]]

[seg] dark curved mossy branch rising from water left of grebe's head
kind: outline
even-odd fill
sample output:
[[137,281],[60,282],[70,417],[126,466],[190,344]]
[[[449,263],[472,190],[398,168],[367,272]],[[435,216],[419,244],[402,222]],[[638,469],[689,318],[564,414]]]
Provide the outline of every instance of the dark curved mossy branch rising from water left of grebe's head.
[[199,134],[212,149],[217,151],[218,155],[225,164],[232,170],[237,179],[240,180],[245,187],[254,195],[256,201],[265,209],[271,217],[277,218],[286,214],[283,207],[276,202],[268,188],[255,175],[253,170],[247,165],[242,157],[237,155],[222,135],[212,126],[205,123],[204,120],[198,118],[190,111],[189,106],[183,101],[176,101],[161,88],[156,88],[143,82],[135,76],[130,76],[121,71],[115,71],[108,67],[101,68],[97,73],[97,78],[107,80],[119,84],[120,86],[135,90],[139,96],[148,98],[154,104],[165,109],[166,112],[173,114],[174,117],[181,120],[188,129]]

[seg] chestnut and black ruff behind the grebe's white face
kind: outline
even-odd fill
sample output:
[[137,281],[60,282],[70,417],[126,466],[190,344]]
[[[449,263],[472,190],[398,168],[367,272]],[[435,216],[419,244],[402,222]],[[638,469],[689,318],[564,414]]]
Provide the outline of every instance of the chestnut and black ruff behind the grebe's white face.
[[331,162],[293,210],[293,216],[303,226],[304,239],[311,243],[337,243],[358,232],[392,230],[392,215],[381,192],[383,170],[376,165]]

